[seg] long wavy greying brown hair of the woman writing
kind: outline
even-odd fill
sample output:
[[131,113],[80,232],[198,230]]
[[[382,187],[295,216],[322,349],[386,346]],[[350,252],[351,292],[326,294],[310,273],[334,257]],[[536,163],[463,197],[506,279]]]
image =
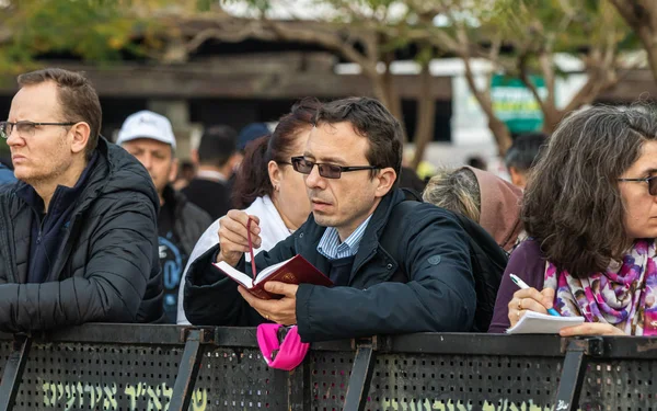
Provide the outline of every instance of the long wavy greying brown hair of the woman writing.
[[522,220],[558,270],[584,277],[607,270],[632,244],[618,179],[657,139],[657,113],[596,106],[560,124],[532,170]]

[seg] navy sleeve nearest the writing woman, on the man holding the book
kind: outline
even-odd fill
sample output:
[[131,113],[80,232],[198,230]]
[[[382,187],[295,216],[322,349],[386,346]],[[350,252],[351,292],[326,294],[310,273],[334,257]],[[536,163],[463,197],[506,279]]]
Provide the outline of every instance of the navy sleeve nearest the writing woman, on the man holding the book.
[[410,282],[366,289],[300,285],[297,322],[304,342],[471,329],[476,296],[466,233],[442,212],[405,218],[396,255]]

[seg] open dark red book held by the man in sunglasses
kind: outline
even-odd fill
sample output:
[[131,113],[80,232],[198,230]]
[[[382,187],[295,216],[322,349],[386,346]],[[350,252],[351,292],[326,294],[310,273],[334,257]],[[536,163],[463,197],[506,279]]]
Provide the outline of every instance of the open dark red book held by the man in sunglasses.
[[257,273],[255,281],[250,275],[242,273],[223,261],[214,265],[223,274],[244,286],[251,294],[262,299],[280,298],[280,296],[265,290],[264,285],[268,281],[287,284],[314,284],[326,287],[333,285],[333,282],[327,276],[299,254],[262,270]]

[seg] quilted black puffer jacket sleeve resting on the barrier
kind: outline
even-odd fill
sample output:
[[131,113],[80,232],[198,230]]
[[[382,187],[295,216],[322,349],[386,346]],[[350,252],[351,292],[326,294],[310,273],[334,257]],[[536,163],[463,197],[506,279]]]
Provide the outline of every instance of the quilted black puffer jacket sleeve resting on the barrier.
[[151,270],[158,264],[153,261],[155,207],[139,194],[113,198],[110,204],[104,213],[84,217],[102,221],[89,239],[90,256],[82,275],[61,282],[0,285],[2,331],[137,319]]

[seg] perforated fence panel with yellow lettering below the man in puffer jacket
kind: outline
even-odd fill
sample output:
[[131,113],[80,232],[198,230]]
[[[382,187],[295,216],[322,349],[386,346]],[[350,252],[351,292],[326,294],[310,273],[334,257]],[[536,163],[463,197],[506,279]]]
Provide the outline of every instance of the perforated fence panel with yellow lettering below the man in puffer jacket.
[[163,410],[182,347],[33,344],[14,410]]

